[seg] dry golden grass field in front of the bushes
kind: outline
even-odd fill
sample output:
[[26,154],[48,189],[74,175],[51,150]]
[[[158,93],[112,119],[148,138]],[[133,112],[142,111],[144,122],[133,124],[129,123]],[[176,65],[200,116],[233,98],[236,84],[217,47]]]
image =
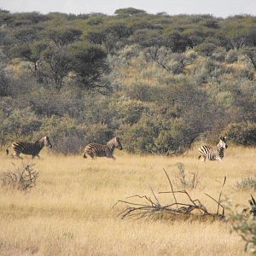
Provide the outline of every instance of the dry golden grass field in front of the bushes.
[[[81,156],[55,156],[48,149],[33,160],[38,183],[28,192],[0,188],[1,255],[242,255],[244,242],[230,233],[230,224],[117,218],[123,209],[113,204],[126,196],[168,190],[163,168],[172,180],[177,162],[187,172],[198,172],[201,186],[189,192],[212,212],[224,176],[224,195],[244,204],[252,191],[236,189],[241,177],[256,171],[256,149],[228,148],[223,162],[202,163],[197,149],[180,157],[134,156],[116,151],[117,160],[84,160]],[[12,169],[0,153],[0,172]],[[24,162],[26,163],[26,158]],[[159,195],[171,201],[170,195]],[[179,199],[182,201],[182,198]]]

